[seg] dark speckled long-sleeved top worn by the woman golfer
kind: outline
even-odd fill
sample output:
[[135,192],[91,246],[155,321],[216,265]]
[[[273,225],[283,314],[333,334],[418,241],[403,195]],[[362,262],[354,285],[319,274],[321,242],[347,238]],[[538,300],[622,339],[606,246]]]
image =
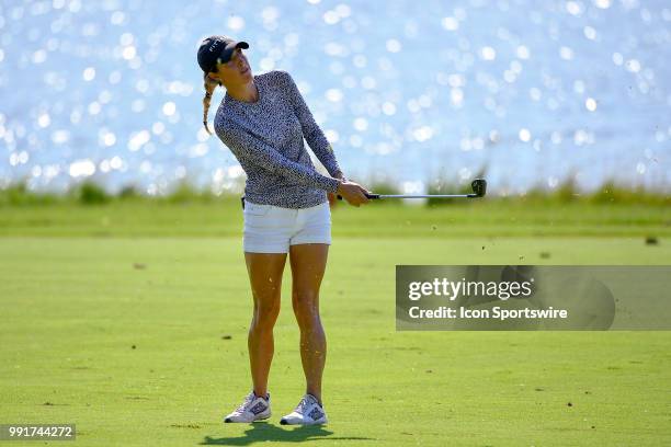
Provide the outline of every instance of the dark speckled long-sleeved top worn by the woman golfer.
[[331,145],[315,123],[286,71],[254,76],[259,100],[237,101],[228,92],[215,117],[215,131],[247,173],[244,199],[284,208],[327,202],[339,181],[315,169],[303,138],[333,177],[342,172]]

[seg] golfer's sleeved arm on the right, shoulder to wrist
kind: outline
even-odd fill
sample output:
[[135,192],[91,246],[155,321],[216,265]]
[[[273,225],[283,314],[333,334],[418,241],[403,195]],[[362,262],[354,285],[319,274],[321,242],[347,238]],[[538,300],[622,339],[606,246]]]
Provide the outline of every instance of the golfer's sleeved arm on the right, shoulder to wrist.
[[300,122],[305,140],[308,142],[310,149],[312,149],[312,152],[315,152],[315,156],[317,156],[321,164],[323,164],[332,177],[346,180],[342,173],[342,170],[338,165],[336,154],[333,153],[333,148],[329,144],[329,140],[327,140],[323,131],[321,131],[319,125],[315,122],[312,113],[305,103],[305,100],[303,99],[298,87],[296,87],[296,83],[292,79],[292,76],[286,71],[283,71],[283,76],[285,78],[292,105],[294,106],[294,112]]

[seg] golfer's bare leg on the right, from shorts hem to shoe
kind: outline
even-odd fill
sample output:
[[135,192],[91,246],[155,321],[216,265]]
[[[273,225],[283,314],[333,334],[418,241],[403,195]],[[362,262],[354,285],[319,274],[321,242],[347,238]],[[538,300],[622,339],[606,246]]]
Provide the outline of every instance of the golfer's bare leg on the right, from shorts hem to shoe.
[[321,402],[321,375],[326,362],[326,334],[319,318],[319,287],[326,270],[329,245],[291,245],[292,303],[300,328],[300,359],[306,392]]

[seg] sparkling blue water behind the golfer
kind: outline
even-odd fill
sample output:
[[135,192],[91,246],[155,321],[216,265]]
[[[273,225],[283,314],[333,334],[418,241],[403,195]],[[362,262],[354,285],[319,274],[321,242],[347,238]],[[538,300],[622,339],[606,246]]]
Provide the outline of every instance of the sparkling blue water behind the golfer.
[[642,0],[3,1],[0,186],[240,191],[202,125],[211,34],[289,71],[364,186],[670,190],[671,3]]

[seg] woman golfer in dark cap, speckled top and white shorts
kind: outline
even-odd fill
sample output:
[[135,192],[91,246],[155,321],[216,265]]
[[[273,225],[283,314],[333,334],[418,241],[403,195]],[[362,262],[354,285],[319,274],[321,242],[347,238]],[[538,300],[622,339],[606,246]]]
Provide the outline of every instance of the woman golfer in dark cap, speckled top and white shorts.
[[[325,424],[321,375],[326,335],[319,318],[319,286],[331,243],[329,194],[360,206],[367,191],[345,180],[333,149],[315,123],[286,71],[252,76],[246,42],[205,38],[198,48],[204,71],[203,124],[217,85],[226,95],[215,117],[219,139],[247,173],[242,244],[254,301],[248,348],[253,389],[225,422],[253,422],[271,415],[268,376],[273,358],[273,326],[280,312],[282,273],[289,254],[292,303],[300,328],[306,393],[281,424]],[[303,139],[331,176],[315,170]]]

